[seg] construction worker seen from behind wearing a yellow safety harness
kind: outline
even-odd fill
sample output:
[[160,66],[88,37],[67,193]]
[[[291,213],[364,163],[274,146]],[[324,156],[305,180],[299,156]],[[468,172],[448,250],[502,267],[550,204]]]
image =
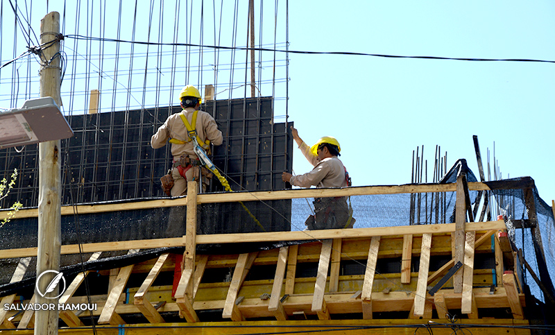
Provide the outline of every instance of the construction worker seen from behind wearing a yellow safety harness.
[[154,149],[162,148],[168,139],[171,143],[173,168],[160,179],[162,189],[168,196],[183,196],[187,193],[187,182],[199,180],[203,175],[203,191],[212,178],[212,173],[204,167],[194,153],[194,139],[208,153],[210,144],[219,146],[223,137],[214,118],[207,112],[198,110],[202,99],[193,85],[183,87],[179,94],[182,111],[171,114],[151,138]]

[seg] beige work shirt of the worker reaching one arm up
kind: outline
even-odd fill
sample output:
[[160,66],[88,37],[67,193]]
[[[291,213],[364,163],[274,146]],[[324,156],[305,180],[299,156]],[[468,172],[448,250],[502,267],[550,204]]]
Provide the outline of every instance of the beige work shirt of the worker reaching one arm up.
[[310,147],[305,143],[299,146],[302,154],[314,166],[312,171],[303,175],[293,175],[289,182],[291,185],[299,187],[347,187],[349,186],[345,180],[345,167],[337,156],[327,157],[321,161],[313,155]]

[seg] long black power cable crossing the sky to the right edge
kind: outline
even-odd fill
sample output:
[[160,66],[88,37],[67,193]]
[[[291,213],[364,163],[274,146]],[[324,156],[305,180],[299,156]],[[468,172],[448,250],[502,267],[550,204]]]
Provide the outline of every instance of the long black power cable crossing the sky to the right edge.
[[269,51],[269,52],[281,52],[281,53],[298,53],[306,55],[363,55],[372,57],[382,57],[382,58],[413,58],[413,59],[429,59],[429,60],[464,60],[469,62],[547,62],[555,63],[555,60],[537,60],[537,59],[527,59],[527,58],[454,58],[454,57],[438,57],[438,56],[409,56],[409,55],[387,55],[380,53],[359,53],[352,51],[299,51],[299,50],[281,50],[281,49],[268,49],[268,48],[249,48],[245,46],[214,46],[214,45],[202,45],[202,44],[191,44],[191,43],[156,43],[156,42],[139,42],[139,41],[128,41],[119,39],[103,39],[101,37],[90,37],[83,35],[66,35],[67,38],[74,38],[77,40],[94,40],[94,41],[107,41],[107,42],[120,42],[120,43],[133,43],[133,44],[160,44],[165,46],[195,46],[207,49],[221,49],[221,50],[243,50],[243,51]]

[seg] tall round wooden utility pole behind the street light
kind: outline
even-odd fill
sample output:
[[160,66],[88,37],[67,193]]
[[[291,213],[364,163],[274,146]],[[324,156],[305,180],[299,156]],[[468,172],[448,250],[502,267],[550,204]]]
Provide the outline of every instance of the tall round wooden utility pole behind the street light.
[[[49,12],[40,22],[40,42],[44,48],[41,55],[40,96],[51,96],[58,105],[61,105],[59,34],[60,14]],[[40,143],[37,278],[46,270],[60,270],[61,171],[60,140]],[[55,275],[56,273],[46,273],[41,277],[37,282],[40,292],[46,292],[46,286],[51,283]],[[56,295],[58,295],[58,289],[46,293],[44,297],[35,292],[37,303],[56,306],[53,310],[35,311],[35,334],[58,334],[58,298],[53,298]]]

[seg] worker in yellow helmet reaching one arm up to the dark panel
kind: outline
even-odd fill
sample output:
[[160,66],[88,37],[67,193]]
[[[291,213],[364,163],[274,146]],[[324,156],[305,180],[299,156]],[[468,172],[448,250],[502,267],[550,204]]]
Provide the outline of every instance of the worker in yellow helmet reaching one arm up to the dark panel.
[[[331,136],[319,139],[314,146],[309,147],[298,135],[296,128],[291,127],[293,139],[300,151],[314,166],[312,171],[302,175],[282,173],[282,180],[298,187],[348,187],[350,178],[338,156],[341,154],[339,141]],[[355,223],[352,218],[352,207],[347,205],[344,196],[334,198],[315,198],[314,215],[309,216],[305,225],[307,229],[350,228]]]

